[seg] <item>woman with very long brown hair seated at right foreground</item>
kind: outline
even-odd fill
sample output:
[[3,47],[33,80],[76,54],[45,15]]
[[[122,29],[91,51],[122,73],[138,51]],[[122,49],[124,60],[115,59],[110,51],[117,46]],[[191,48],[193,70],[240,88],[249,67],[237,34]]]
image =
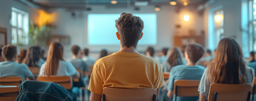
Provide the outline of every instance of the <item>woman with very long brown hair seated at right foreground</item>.
[[253,77],[253,70],[246,66],[239,43],[233,38],[223,38],[200,80],[200,101],[206,100],[212,83],[251,84]]

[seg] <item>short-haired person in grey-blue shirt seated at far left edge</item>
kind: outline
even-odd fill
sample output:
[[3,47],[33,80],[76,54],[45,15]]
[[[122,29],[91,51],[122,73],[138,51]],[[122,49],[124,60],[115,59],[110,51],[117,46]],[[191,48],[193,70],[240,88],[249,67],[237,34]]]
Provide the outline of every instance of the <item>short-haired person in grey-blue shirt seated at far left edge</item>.
[[2,55],[6,61],[0,62],[0,77],[19,76],[25,81],[37,80],[26,64],[19,64],[17,60],[17,48],[14,45],[5,45],[2,48]]

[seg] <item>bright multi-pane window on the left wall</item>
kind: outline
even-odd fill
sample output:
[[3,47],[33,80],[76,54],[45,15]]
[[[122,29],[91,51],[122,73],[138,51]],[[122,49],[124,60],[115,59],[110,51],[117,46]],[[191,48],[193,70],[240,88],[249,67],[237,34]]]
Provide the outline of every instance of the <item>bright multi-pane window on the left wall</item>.
[[11,43],[28,45],[28,13],[11,8]]

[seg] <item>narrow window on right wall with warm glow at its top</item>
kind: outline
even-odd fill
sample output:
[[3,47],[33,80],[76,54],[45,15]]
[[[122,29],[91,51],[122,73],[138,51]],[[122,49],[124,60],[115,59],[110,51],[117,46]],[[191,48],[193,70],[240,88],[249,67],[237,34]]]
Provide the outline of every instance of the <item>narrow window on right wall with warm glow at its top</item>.
[[223,10],[214,12],[214,35],[215,35],[215,47],[219,44],[219,41],[224,38],[223,29]]

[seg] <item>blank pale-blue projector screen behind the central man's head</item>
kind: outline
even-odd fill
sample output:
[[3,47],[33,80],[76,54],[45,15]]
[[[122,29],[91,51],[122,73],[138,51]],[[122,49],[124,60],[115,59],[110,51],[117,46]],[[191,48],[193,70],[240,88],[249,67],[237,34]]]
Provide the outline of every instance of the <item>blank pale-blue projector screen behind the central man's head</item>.
[[[89,45],[120,45],[115,33],[115,20],[121,14],[88,14],[88,44]],[[144,22],[143,37],[138,45],[157,44],[157,15],[155,13],[134,14]]]

